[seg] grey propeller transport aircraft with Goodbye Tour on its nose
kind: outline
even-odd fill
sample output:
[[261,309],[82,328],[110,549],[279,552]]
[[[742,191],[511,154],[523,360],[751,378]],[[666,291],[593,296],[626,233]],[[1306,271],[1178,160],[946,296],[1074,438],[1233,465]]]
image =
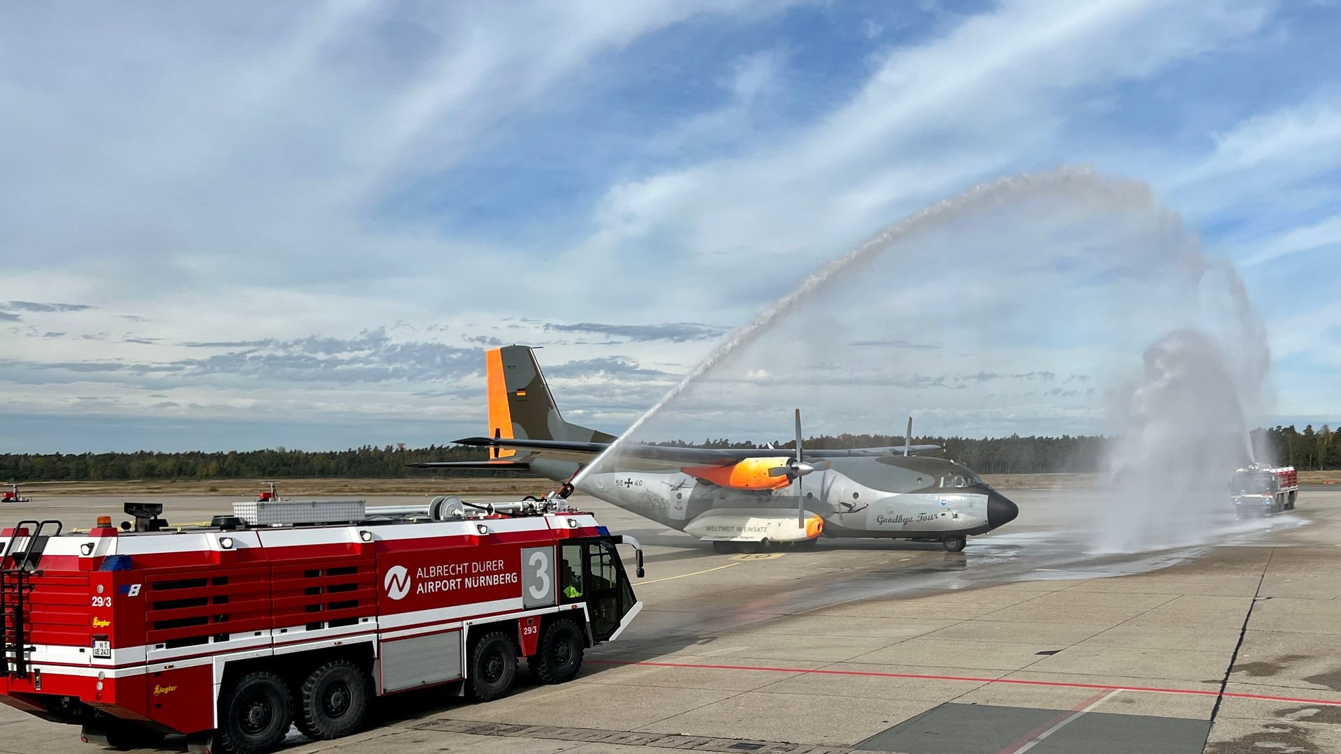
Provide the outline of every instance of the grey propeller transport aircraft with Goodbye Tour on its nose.
[[[489,437],[456,440],[489,448],[481,462],[416,467],[528,468],[563,482],[617,437],[569,424],[528,346],[485,356]],[[786,449],[693,448],[620,443],[577,480],[577,490],[713,543],[717,551],[813,546],[825,537],[882,537],[964,549],[967,537],[1014,521],[1015,503],[968,467],[917,456],[939,445],[802,449],[797,411],[795,453]]]

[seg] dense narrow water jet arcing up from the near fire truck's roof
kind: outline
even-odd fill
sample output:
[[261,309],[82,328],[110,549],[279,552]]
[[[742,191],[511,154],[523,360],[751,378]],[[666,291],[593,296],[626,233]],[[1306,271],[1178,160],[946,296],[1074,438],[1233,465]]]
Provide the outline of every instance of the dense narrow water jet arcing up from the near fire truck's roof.
[[593,459],[591,463],[582,467],[578,475],[573,478],[573,486],[577,487],[581,484],[582,479],[594,467],[598,467],[606,456],[617,455],[620,447],[624,445],[629,437],[638,431],[638,428],[656,416],[668,402],[673,401],[684,393],[685,389],[697,382],[699,378],[701,378],[709,369],[720,364],[736,349],[752,343],[758,339],[764,327],[794,309],[803,299],[822,290],[826,283],[838,278],[845,270],[849,270],[868,259],[880,256],[900,240],[911,236],[912,233],[927,229],[935,223],[953,219],[970,211],[988,209],[994,205],[1002,204],[1007,200],[1019,199],[1025,195],[1049,192],[1065,192],[1070,197],[1085,195],[1101,196],[1109,201],[1118,200],[1137,205],[1149,205],[1152,201],[1149,186],[1143,182],[1100,178],[1094,170],[1088,166],[1062,166],[1042,173],[1022,173],[1018,176],[978,184],[953,199],[937,201],[920,212],[909,215],[908,217],[885,227],[868,241],[853,248],[848,254],[826,263],[823,267],[806,278],[790,294],[774,302],[772,306],[764,310],[759,317],[754,318],[754,321],[748,325],[744,325],[731,333],[725,341],[708,354],[707,358],[700,361],[699,365],[685,374],[685,377],[680,380],[675,388],[662,396],[656,405],[648,409],[646,413],[640,416],[638,420],[624,432],[624,435],[616,439],[609,448]]

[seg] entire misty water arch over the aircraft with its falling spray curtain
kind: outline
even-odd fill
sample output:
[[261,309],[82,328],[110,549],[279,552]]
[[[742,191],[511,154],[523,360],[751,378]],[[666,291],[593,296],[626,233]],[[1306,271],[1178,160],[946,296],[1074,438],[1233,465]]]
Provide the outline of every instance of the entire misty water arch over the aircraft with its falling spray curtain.
[[[886,254],[892,250],[900,254]],[[784,333],[783,322],[799,322],[806,331]],[[751,349],[774,335],[778,342]],[[860,342],[843,342],[854,338]],[[913,346],[913,339],[925,345]],[[865,350],[834,350],[857,346]],[[925,350],[898,350],[904,347]],[[747,358],[774,357],[768,369],[742,366]],[[795,401],[823,419],[815,401],[852,398],[854,407],[830,419],[854,432],[869,427],[853,428],[853,420],[888,421],[893,416],[880,415],[885,407],[889,413],[901,411],[894,408],[900,402],[927,408],[927,392],[940,390],[937,398],[953,402],[931,409],[932,421],[937,411],[972,416],[972,436],[990,433],[988,427],[1008,435],[1035,411],[1051,413],[1038,420],[1051,421],[1043,424],[1050,433],[1062,417],[1085,423],[1089,433],[1118,437],[1109,459],[1113,476],[1125,474],[1122,484],[1153,479],[1164,487],[1114,482],[1116,494],[1085,495],[1085,503],[1097,506],[1090,518],[1105,530],[1096,546],[1161,546],[1167,542],[1149,525],[1163,511],[1151,506],[1169,504],[1171,495],[1195,495],[1196,504],[1187,507],[1198,511],[1226,502],[1222,474],[1243,455],[1246,423],[1261,409],[1269,362],[1265,329],[1232,267],[1207,259],[1147,184],[1063,166],[970,188],[827,262],[723,339],[582,468],[574,484],[581,488],[590,474],[616,468],[624,444],[669,404],[709,382],[740,389],[713,396],[728,411],[750,405],[780,412]],[[908,364],[953,372],[889,369]],[[970,372],[975,365],[976,373]],[[1082,382],[1062,386],[1073,378]],[[1023,388],[976,396],[978,405],[966,389],[1011,380]],[[770,393],[774,386],[778,392]],[[787,390],[793,393],[779,394]],[[1169,474],[1181,474],[1185,483],[1168,484]],[[1133,506],[1133,496],[1149,504]],[[1195,530],[1195,517],[1179,526]]]

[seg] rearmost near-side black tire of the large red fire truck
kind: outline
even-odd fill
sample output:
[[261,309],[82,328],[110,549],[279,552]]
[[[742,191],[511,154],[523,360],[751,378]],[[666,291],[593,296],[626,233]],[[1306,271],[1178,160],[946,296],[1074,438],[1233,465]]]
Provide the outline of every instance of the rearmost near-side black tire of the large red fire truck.
[[275,674],[245,674],[219,700],[219,749],[227,754],[274,751],[284,742],[292,722],[288,684]]

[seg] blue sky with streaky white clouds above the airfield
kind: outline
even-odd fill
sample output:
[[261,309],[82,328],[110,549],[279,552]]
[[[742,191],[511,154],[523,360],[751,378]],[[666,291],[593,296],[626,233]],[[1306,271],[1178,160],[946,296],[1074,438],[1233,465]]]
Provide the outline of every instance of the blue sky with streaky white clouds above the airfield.
[[[618,431],[880,227],[1062,164],[1235,266],[1258,423],[1336,425],[1336,39],[1332,1],[9,5],[0,449],[444,443],[502,342]],[[1098,398],[1019,402],[1105,378],[1053,319],[1029,358],[831,373],[905,392],[814,431],[1102,431]],[[794,397],[751,394],[665,431],[786,432]]]

